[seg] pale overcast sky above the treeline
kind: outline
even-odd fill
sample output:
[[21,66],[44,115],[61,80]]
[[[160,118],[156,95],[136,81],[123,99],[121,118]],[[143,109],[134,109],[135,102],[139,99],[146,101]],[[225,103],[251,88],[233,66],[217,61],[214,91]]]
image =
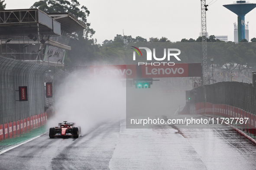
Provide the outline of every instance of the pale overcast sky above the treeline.
[[[25,1],[25,0],[24,0]],[[6,9],[27,9],[39,0],[5,0]],[[228,35],[234,41],[237,15],[223,5],[234,0],[207,0],[207,32],[209,35]],[[102,44],[117,34],[166,37],[171,41],[198,38],[201,32],[201,0],[78,0],[90,11],[88,22],[96,33],[93,38]],[[250,3],[256,3],[251,0]],[[256,9],[245,16],[249,22],[249,39],[256,37]]]

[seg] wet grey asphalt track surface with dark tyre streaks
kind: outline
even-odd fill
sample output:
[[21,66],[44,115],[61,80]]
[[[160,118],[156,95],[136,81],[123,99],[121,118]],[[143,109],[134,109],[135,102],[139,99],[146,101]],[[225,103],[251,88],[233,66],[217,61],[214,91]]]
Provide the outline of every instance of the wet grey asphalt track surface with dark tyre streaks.
[[1,170],[255,169],[256,146],[229,126],[126,129],[105,123],[78,139],[48,134],[0,155]]

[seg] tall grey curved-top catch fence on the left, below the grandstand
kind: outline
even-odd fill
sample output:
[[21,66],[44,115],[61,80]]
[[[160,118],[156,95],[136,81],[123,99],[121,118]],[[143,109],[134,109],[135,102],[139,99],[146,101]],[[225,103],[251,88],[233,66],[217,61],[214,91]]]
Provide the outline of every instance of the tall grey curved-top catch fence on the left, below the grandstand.
[[[0,56],[0,124],[45,110],[44,73],[48,66]],[[19,101],[19,86],[27,86],[28,101]]]

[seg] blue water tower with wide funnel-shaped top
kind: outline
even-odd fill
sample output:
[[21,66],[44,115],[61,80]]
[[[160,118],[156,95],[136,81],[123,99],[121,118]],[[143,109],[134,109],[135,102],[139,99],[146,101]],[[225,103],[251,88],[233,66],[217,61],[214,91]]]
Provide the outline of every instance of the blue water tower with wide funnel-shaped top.
[[237,3],[224,5],[224,7],[237,14],[238,42],[240,42],[245,39],[244,16],[256,7],[256,3],[248,3],[245,0],[239,0]]

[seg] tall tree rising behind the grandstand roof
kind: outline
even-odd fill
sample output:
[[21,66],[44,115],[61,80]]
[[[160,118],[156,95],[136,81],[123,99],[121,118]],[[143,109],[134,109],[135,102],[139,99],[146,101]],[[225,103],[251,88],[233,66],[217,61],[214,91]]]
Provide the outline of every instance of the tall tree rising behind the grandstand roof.
[[[30,8],[38,8],[45,13],[71,13],[87,26],[84,30],[84,38],[88,39],[94,35],[95,31],[90,28],[87,17],[90,11],[86,6],[81,6],[77,0],[40,0],[35,2]],[[78,35],[79,36],[79,35]]]

